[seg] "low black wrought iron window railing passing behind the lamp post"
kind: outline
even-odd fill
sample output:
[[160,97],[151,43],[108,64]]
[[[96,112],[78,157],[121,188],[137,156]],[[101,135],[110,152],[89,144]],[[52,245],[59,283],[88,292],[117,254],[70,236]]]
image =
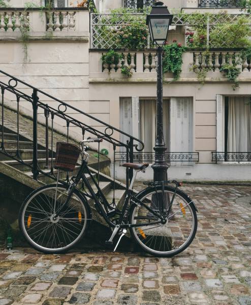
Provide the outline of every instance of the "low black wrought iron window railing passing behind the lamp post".
[[[155,153],[146,153],[144,151],[134,151],[133,159],[135,162],[154,162]],[[120,165],[126,162],[126,154],[122,152],[115,153],[115,162],[119,162]],[[166,162],[199,162],[199,153],[195,152],[175,152],[175,153],[165,153]]]

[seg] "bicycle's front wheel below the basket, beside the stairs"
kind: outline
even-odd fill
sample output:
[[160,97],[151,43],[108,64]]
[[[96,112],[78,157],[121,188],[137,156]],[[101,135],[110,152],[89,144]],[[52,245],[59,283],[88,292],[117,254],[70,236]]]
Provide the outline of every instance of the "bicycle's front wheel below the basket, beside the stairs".
[[[76,245],[87,230],[89,206],[77,190],[63,206],[67,190],[64,185],[39,188],[21,206],[20,229],[30,245],[41,252],[65,252]],[[55,212],[58,212],[56,219],[53,218]]]

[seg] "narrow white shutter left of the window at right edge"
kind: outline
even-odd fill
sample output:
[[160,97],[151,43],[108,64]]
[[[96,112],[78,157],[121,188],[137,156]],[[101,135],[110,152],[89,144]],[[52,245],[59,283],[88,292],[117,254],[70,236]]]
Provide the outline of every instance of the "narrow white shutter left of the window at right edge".
[[223,96],[216,95],[216,150],[224,151]]

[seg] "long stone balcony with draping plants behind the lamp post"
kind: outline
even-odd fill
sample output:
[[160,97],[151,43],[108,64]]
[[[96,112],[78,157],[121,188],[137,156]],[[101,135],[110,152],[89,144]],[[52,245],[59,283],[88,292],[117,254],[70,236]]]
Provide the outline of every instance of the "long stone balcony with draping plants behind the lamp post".
[[[122,59],[118,64],[105,64],[102,55],[108,50],[90,50],[90,82],[155,82],[156,81],[156,51],[154,49],[120,50]],[[198,82],[198,71],[207,70],[205,82],[227,82],[227,78],[220,72],[226,63],[233,63],[238,59],[237,68],[240,69],[239,81],[251,79],[251,61],[242,58],[241,52],[234,49],[187,50],[183,54],[182,72],[177,82]],[[132,77],[121,73],[122,67],[130,67]],[[197,72],[197,73],[196,73]],[[164,80],[173,80],[171,73],[164,75]]]

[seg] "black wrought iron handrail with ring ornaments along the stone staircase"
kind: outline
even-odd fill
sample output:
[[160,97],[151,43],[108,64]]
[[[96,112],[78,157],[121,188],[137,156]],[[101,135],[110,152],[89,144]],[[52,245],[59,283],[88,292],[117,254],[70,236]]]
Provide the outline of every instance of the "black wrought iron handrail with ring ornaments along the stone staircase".
[[[59,132],[64,131],[67,142],[69,142],[71,139],[71,132],[74,132],[75,135],[78,134],[82,138],[86,138],[88,136],[102,138],[106,143],[109,143],[108,146],[112,144],[114,151],[123,147],[125,150],[125,159],[128,162],[134,161],[135,149],[138,149],[139,151],[143,149],[144,144],[142,141],[105,123],[97,117],[91,116],[72,105],[62,102],[61,100],[52,97],[42,90],[29,85],[1,70],[0,76],[0,92],[2,95],[2,111],[0,111],[2,114],[0,121],[0,125],[2,125],[0,152],[11,159],[28,166],[33,172],[34,179],[38,178],[39,173],[49,176],[52,179],[56,179],[55,170],[53,168],[53,151],[55,151],[56,134],[58,134],[55,132],[55,130],[58,130],[58,128],[61,128]],[[8,101],[11,101],[11,106],[12,108],[15,108],[16,112],[16,114],[13,114],[15,116],[13,117],[13,122],[11,122],[12,130],[16,132],[16,141],[14,143],[13,141],[6,140],[4,134],[6,128],[8,128],[8,126],[6,126],[7,124],[5,116],[7,111],[5,105]],[[32,130],[28,129],[28,127],[27,130],[24,130],[26,126],[25,122],[23,121],[24,118],[20,112],[22,107],[27,109],[27,111],[30,110],[32,113]],[[42,129],[41,124],[38,126],[38,120],[42,120],[44,130]],[[96,128],[93,126],[101,126],[102,128]],[[21,145],[23,143],[20,141],[20,138],[22,137],[22,133],[20,133],[21,127],[24,130],[24,134],[29,135],[33,141],[31,162],[26,162],[25,160],[27,158],[23,157],[24,151],[21,149]],[[38,128],[40,129],[39,135]],[[44,134],[44,137],[41,137],[41,134]],[[126,143],[118,140],[121,138],[121,136],[128,139]],[[45,144],[46,159],[50,159],[50,166],[47,171],[41,169],[38,162],[40,154],[40,151],[38,151],[38,145],[40,143]],[[12,145],[11,149],[9,148],[10,146],[7,148],[7,145],[10,144]],[[132,170],[127,171],[127,175],[132,177]],[[69,180],[68,175],[66,180]]]

